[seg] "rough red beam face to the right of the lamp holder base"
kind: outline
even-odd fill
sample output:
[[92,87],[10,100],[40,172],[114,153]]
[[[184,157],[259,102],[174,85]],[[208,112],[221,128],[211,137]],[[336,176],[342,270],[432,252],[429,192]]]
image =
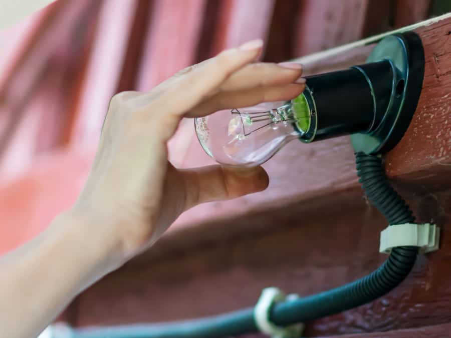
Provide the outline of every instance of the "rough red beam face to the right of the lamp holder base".
[[[449,187],[451,174],[451,21],[418,29],[425,74],[418,108],[405,136],[386,159],[387,173],[416,187]],[[426,186],[427,185],[427,186]]]

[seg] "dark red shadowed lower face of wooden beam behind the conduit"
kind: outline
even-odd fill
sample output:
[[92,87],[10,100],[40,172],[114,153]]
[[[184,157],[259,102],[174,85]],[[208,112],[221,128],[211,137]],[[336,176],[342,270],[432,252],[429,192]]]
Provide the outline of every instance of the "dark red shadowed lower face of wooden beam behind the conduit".
[[[440,250],[420,256],[409,277],[379,300],[307,323],[306,336],[385,332],[451,320],[451,191],[404,197],[419,221],[433,220],[441,227]],[[354,189],[175,231],[83,293],[74,324],[212,315],[252,306],[267,286],[300,295],[320,292],[361,277],[386,259],[377,253],[385,226]]]

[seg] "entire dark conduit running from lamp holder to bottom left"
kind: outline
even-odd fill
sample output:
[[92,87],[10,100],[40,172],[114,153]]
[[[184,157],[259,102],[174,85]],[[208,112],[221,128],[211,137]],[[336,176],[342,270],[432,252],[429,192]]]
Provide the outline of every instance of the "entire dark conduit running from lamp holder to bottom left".
[[[393,190],[385,177],[382,160],[376,156],[356,154],[359,182],[368,199],[385,216],[388,224],[414,223],[407,204]],[[415,263],[417,247],[393,248],[388,259],[375,271],[349,284],[276,304],[271,320],[280,326],[304,322],[338,313],[368,303],[396,287]],[[257,330],[253,308],[167,324],[112,326],[76,329],[71,338],[213,338],[249,333]]]

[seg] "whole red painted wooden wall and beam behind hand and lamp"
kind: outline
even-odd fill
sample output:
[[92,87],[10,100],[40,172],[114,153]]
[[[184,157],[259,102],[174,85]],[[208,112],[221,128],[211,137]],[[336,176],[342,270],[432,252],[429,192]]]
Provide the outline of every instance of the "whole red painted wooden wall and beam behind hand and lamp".
[[[364,62],[372,46],[304,56],[418,22],[429,9],[422,0],[59,0],[30,19],[0,64],[0,252],[75,200],[114,93],[151,89],[254,38],[265,39],[266,61],[302,57],[306,74],[345,68]],[[441,227],[441,248],[419,257],[387,296],[309,322],[308,335],[438,337],[449,329],[451,21],[416,31],[426,54],[423,92],[385,165],[418,219]],[[170,141],[177,167],[211,163],[192,136],[186,120]],[[252,306],[270,285],[301,295],[338,286],[385,258],[377,247],[386,224],[363,198],[348,137],[291,143],[265,168],[267,191],[185,213],[151,250],[77,297],[63,318],[85,326],[210,315]]]

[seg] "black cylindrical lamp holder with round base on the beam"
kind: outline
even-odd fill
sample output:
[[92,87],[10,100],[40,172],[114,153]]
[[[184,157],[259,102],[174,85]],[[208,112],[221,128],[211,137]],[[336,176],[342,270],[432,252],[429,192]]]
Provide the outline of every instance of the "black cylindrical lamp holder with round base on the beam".
[[415,112],[424,76],[424,52],[413,32],[382,39],[363,65],[307,77],[304,96],[309,143],[351,134],[356,152],[391,150]]

